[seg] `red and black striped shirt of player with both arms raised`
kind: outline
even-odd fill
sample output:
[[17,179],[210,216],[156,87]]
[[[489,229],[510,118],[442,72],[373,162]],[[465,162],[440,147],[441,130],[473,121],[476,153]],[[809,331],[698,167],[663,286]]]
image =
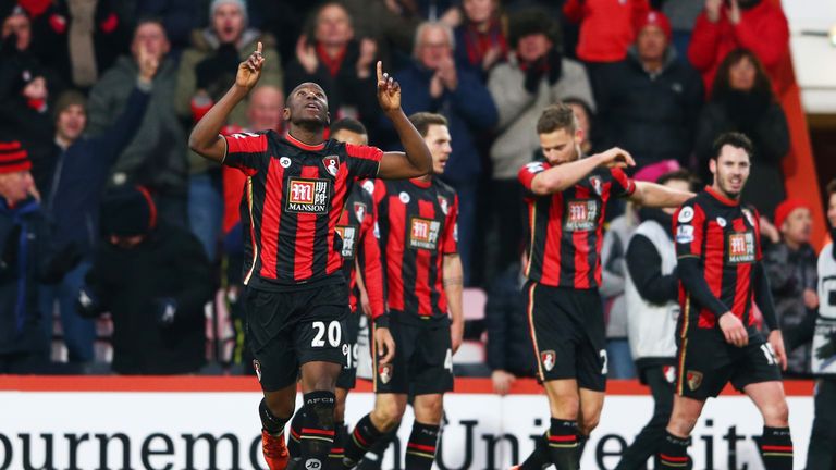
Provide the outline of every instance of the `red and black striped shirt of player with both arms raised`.
[[247,174],[244,284],[286,289],[341,281],[336,222],[348,190],[377,174],[383,151],[336,140],[309,146],[273,131],[223,138],[223,163]]

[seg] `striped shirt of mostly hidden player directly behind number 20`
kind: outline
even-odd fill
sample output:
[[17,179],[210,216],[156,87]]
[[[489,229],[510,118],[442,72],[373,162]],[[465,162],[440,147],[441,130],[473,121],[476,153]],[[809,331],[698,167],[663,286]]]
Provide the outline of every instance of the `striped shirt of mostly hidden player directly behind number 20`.
[[[348,193],[345,210],[336,224],[336,232],[343,239],[342,255],[345,260],[343,274],[348,281],[348,306],[352,313],[357,311],[357,265],[366,285],[371,305],[371,318],[376,319],[385,311],[383,295],[383,267],[380,262],[378,238],[378,210],[371,193],[374,182],[366,180]],[[356,263],[355,263],[356,261]]]

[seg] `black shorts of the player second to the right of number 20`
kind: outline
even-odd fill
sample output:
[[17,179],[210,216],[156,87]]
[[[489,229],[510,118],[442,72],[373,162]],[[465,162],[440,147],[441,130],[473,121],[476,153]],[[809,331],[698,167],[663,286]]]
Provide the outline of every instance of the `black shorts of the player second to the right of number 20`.
[[[392,312],[389,325],[395,341],[395,358],[392,363],[381,363],[377,354],[372,354],[374,392],[413,395],[452,392],[450,321],[427,320],[427,323],[415,324],[398,321],[397,317],[398,312]],[[373,337],[372,327],[372,344]]]

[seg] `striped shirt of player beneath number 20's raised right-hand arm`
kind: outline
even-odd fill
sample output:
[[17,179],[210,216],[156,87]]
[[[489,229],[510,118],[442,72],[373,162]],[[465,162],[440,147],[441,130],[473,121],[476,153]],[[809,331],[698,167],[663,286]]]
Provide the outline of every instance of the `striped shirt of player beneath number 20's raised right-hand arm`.
[[458,197],[438,178],[374,184],[389,309],[402,318],[447,319],[444,255],[458,252]]

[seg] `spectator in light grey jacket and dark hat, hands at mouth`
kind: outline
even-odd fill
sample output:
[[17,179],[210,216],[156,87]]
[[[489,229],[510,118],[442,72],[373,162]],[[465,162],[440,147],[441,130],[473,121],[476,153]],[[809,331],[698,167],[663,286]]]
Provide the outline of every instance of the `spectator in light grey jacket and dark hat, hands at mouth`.
[[[514,262],[516,249],[522,243],[522,227],[527,226],[517,172],[540,150],[537,133],[531,132],[540,114],[549,104],[569,97],[594,109],[587,73],[581,64],[561,55],[558,36],[556,22],[544,10],[524,9],[514,13],[509,18],[513,52],[488,78],[500,118],[496,139],[490,148],[490,206],[499,223],[496,245],[503,250],[499,253],[500,270]],[[583,134],[583,138],[588,136]]]

